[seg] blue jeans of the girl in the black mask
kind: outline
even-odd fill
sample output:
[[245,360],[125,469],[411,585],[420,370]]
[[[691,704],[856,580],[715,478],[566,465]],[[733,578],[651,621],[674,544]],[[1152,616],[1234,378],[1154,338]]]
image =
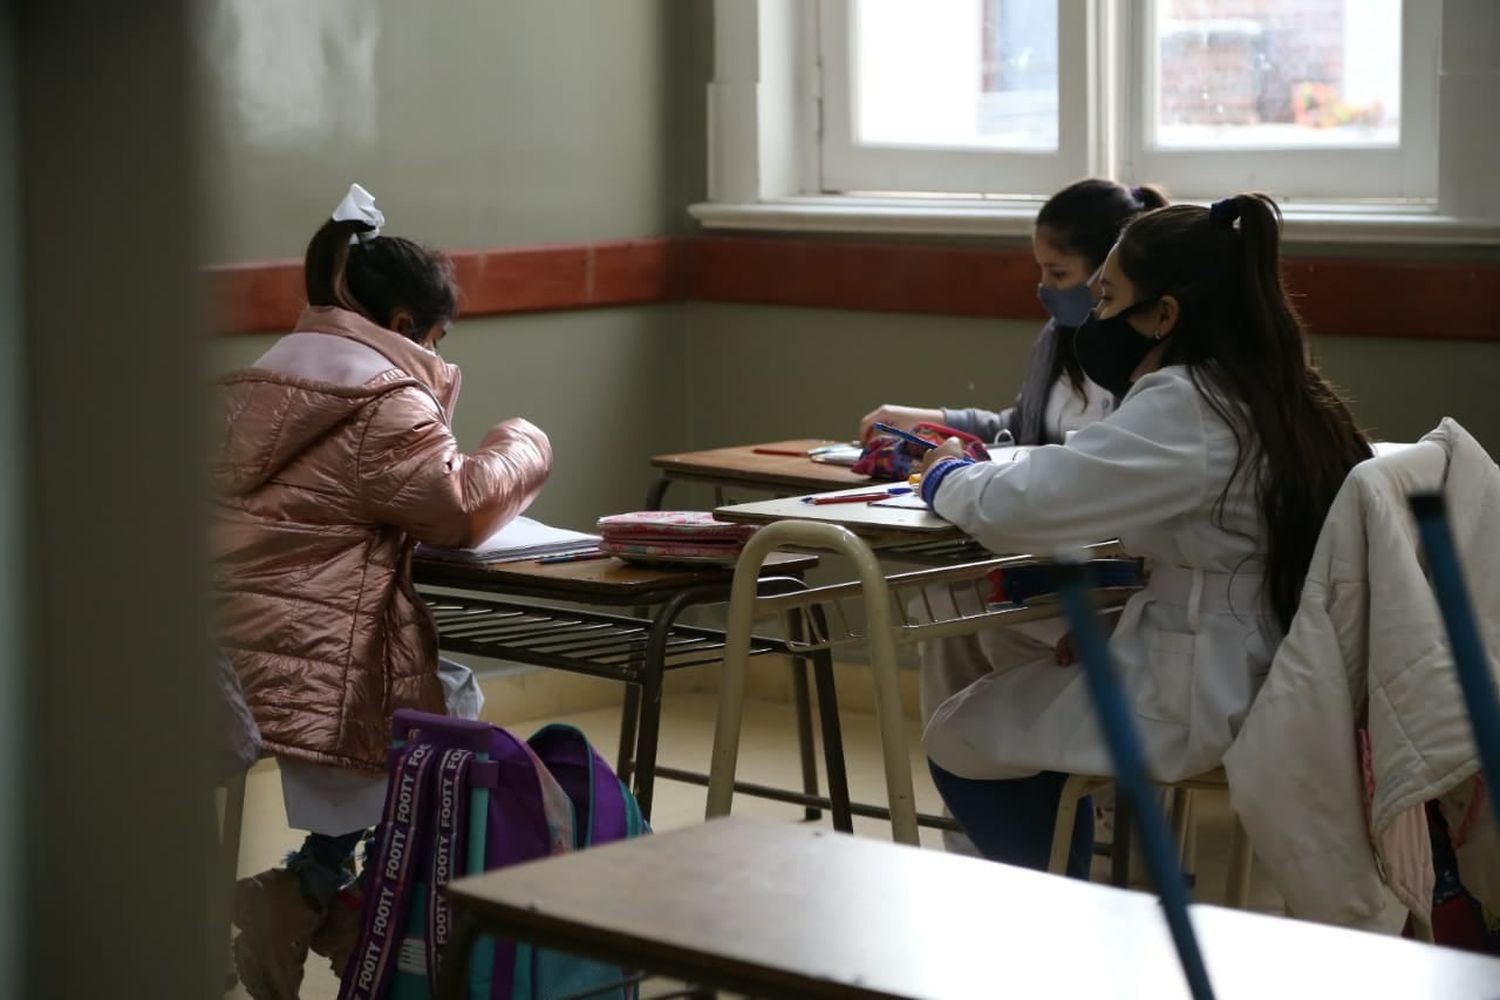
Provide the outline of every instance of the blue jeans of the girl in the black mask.
[[[1042,771],[1030,778],[976,781],[960,778],[927,762],[942,801],[980,853],[1022,868],[1047,870],[1058,802],[1068,775]],[[1068,846],[1068,876],[1088,879],[1094,861],[1094,805],[1078,802]]]

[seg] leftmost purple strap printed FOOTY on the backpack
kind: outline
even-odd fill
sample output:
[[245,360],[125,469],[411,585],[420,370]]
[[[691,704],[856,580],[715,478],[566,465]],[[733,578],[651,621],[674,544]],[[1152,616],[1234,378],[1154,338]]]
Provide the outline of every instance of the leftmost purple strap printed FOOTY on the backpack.
[[405,930],[402,919],[420,871],[436,763],[436,748],[414,742],[400,748],[398,766],[392,769],[375,874],[364,900],[356,948],[357,960],[339,984],[339,1000],[375,1000],[388,990]]

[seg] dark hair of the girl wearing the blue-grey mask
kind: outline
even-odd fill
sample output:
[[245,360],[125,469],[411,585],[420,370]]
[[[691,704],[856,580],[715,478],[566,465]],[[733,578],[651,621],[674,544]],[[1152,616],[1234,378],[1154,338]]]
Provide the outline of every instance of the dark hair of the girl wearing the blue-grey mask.
[[[1047,240],[1070,256],[1082,256],[1094,273],[1104,267],[1104,258],[1119,240],[1125,223],[1143,211],[1161,208],[1167,195],[1155,184],[1126,187],[1113,180],[1089,177],[1074,181],[1047,199],[1036,213],[1036,228],[1047,229]],[[1058,352],[1048,373],[1048,384],[1064,373],[1082,396],[1083,369],[1072,351],[1072,337],[1058,339]]]

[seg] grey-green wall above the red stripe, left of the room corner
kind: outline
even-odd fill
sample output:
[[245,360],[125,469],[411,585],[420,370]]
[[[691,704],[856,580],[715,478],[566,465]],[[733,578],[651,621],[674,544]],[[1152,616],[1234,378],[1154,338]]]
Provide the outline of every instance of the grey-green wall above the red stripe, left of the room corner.
[[352,180],[446,247],[668,231],[687,25],[666,0],[213,0],[212,256],[298,256]]

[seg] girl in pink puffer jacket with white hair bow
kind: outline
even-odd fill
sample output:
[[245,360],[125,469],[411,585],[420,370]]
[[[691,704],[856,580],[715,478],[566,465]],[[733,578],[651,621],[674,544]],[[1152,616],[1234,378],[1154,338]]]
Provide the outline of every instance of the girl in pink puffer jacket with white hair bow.
[[459,450],[459,370],[436,352],[452,265],[382,222],[356,184],[308,244],[296,331],[219,382],[216,637],[280,765],[288,825],[309,831],[285,868],[236,888],[236,960],[256,1000],[297,996],[309,946],[339,970],[333,930],[352,921],[327,918],[380,816],[392,714],[442,712],[446,684],[477,714],[466,669],[440,678],[412,547],[483,541],[552,465],[519,418]]

